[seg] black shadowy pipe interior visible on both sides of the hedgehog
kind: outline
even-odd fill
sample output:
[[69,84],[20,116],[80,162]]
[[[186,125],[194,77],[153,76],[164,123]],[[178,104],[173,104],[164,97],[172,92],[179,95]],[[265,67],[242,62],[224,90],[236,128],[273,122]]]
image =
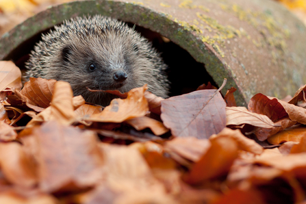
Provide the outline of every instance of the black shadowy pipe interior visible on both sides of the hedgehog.
[[[133,23],[128,23],[130,27],[133,27]],[[160,34],[146,29],[144,27],[135,27],[136,31],[139,31],[142,36],[152,42],[153,47],[162,53],[164,62],[168,64],[168,79],[171,82],[170,97],[179,94],[185,94],[196,90],[201,84],[207,84],[209,81],[212,85],[216,86],[216,83],[212,77],[207,73],[205,65],[196,62],[194,58],[186,51],[179,47],[179,45],[171,42],[167,38],[162,37]],[[47,33],[49,31],[42,31]],[[13,60],[23,73],[25,72],[25,62],[29,59],[29,53],[34,48],[36,42],[41,40],[41,34],[33,36],[31,39],[23,42],[17,47],[8,58],[4,60]],[[217,87],[217,86],[216,86]]]

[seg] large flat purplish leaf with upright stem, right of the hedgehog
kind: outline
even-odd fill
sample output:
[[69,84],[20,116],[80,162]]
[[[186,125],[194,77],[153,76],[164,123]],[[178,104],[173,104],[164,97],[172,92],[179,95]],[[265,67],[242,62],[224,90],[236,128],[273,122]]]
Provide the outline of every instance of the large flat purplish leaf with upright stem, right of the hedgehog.
[[209,138],[225,127],[225,106],[219,90],[198,90],[162,101],[161,118],[174,136]]

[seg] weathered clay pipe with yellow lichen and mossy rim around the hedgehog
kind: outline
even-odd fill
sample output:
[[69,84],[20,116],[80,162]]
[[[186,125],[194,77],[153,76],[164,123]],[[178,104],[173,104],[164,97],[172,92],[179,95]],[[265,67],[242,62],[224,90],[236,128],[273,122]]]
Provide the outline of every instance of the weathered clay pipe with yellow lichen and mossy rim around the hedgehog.
[[[0,59],[18,56],[32,36],[75,16],[102,14],[166,36],[205,64],[220,86],[238,88],[239,105],[262,92],[285,97],[306,82],[306,28],[272,0],[75,1],[49,8],[0,40]],[[17,49],[18,48],[18,49]],[[188,67],[186,67],[188,70]],[[196,73],[194,73],[196,75]]]

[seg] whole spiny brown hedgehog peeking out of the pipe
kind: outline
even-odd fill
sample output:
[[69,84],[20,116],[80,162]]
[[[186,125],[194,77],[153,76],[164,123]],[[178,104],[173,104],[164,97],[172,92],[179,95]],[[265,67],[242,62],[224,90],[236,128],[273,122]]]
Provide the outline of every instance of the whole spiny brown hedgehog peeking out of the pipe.
[[128,92],[147,84],[157,97],[168,97],[167,65],[160,53],[134,28],[101,15],[71,18],[42,34],[26,68],[26,80],[67,81],[75,96],[98,105],[109,105],[116,96],[90,90]]

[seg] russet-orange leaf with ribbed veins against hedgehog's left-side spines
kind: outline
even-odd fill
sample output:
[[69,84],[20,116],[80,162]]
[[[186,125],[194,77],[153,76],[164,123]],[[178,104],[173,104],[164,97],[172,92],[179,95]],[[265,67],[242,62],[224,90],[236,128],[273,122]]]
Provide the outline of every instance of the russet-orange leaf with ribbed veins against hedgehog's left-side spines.
[[55,79],[29,78],[20,93],[30,99],[33,105],[46,108],[51,103],[55,83]]

